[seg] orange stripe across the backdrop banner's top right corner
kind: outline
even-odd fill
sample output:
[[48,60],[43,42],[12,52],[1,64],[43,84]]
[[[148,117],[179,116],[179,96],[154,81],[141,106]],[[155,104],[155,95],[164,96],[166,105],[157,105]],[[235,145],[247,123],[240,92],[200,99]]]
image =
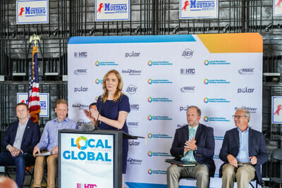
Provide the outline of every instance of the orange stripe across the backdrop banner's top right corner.
[[228,33],[197,35],[210,53],[262,53],[259,33]]

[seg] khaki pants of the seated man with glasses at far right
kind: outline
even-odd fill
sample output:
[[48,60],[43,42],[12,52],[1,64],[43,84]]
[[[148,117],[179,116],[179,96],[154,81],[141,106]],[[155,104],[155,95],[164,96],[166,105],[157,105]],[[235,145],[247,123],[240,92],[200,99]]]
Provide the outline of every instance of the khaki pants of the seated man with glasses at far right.
[[238,188],[247,188],[251,180],[255,178],[255,168],[252,165],[244,165],[238,168],[232,165],[223,165],[222,170],[222,187],[233,188],[237,180]]

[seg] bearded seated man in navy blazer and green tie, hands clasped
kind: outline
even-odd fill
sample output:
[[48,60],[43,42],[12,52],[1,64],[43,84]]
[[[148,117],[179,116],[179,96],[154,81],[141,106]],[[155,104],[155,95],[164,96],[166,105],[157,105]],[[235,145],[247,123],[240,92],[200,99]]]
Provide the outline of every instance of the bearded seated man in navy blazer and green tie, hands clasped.
[[214,130],[199,123],[201,110],[189,106],[188,125],[176,130],[171,155],[180,161],[197,163],[195,166],[170,165],[166,170],[168,188],[178,188],[180,177],[195,177],[197,188],[209,187],[209,177],[214,176]]

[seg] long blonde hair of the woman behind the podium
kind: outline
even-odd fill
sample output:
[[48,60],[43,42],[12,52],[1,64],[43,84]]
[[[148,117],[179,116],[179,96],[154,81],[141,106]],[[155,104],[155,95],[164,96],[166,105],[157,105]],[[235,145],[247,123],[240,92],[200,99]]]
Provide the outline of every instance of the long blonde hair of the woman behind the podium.
[[111,73],[114,73],[116,75],[116,77],[118,78],[118,87],[116,87],[116,92],[114,94],[114,101],[118,101],[118,99],[121,97],[121,94],[123,94],[121,92],[121,90],[123,90],[123,80],[121,79],[121,75],[118,73],[117,70],[109,70],[108,73],[106,73],[106,75],[104,75],[104,78],[103,78],[103,89],[104,89],[104,93],[102,94],[101,96],[101,99],[104,102],[106,102],[106,99],[108,99],[108,95],[109,95],[109,92],[108,92],[108,89],[106,89],[106,78],[111,74]]

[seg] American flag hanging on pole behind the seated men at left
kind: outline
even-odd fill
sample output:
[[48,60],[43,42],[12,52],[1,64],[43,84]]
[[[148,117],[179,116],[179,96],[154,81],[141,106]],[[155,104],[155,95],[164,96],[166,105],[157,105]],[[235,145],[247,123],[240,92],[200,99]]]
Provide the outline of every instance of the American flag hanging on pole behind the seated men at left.
[[39,125],[40,101],[37,52],[37,46],[34,46],[32,51],[32,66],[30,68],[30,87],[28,87],[27,106],[30,112],[30,120]]

